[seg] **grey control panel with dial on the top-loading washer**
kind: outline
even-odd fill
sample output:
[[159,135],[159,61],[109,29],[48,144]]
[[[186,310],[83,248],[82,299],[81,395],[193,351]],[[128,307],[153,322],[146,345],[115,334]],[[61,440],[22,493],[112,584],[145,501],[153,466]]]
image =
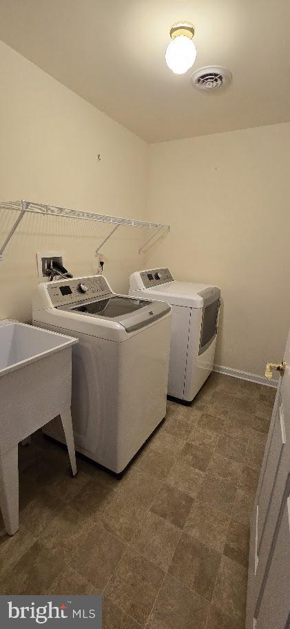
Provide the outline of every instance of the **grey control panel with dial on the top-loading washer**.
[[57,280],[48,282],[46,289],[55,308],[68,306],[85,299],[93,299],[112,295],[107,280],[103,275],[96,275],[89,278]]

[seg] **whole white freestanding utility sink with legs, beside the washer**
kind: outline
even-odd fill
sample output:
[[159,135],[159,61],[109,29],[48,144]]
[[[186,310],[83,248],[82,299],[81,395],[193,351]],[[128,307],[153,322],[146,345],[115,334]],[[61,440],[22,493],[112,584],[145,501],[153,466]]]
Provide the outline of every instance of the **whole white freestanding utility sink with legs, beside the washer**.
[[19,525],[20,441],[60,415],[76,474],[70,414],[72,345],[76,342],[76,338],[25,323],[0,321],[0,507],[10,535]]

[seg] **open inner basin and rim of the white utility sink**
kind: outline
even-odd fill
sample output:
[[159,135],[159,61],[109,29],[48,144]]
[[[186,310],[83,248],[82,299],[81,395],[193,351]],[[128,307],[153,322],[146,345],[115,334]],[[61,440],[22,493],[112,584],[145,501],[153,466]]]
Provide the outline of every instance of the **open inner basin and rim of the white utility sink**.
[[0,377],[76,342],[25,323],[0,322]]

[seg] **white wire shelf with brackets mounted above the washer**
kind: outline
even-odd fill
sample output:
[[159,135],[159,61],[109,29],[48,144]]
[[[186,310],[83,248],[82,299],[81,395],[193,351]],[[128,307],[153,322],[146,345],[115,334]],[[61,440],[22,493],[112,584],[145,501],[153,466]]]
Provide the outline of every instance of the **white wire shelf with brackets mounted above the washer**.
[[149,242],[154,240],[154,237],[157,235],[157,233],[159,233],[160,231],[169,231],[170,229],[169,225],[154,223],[152,221],[137,220],[134,218],[123,218],[120,216],[112,216],[109,214],[96,214],[92,212],[81,212],[79,210],[63,208],[63,207],[54,206],[54,205],[35,203],[34,201],[25,201],[25,200],[0,201],[0,210],[1,209],[17,211],[19,214],[12,228],[10,229],[10,232],[8,233],[6,240],[3,242],[2,246],[0,247],[0,261],[3,260],[3,253],[8,243],[10,242],[14,232],[17,230],[19,223],[21,222],[21,220],[27,213],[42,214],[46,216],[65,217],[65,218],[72,218],[72,219],[78,219],[78,220],[90,220],[90,221],[95,221],[95,222],[97,221],[97,222],[102,222],[102,223],[113,224],[114,228],[112,229],[110,234],[107,235],[107,238],[105,238],[105,240],[103,240],[103,242],[98,246],[98,249],[96,249],[95,251],[96,255],[99,253],[103,244],[105,244],[105,242],[109,240],[109,238],[116,231],[116,229],[118,229],[119,226],[145,227],[146,229],[157,230],[157,232],[154,235],[150,236],[150,238],[141,246],[141,248],[138,250],[138,253],[141,253],[143,249],[145,249],[145,246],[147,246]]

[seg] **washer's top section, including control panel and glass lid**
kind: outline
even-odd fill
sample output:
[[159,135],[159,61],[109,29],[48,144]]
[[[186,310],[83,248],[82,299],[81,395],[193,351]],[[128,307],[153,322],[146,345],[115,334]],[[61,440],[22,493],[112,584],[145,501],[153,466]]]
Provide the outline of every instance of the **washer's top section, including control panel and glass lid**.
[[103,275],[65,278],[38,284],[34,291],[34,323],[68,332],[123,342],[158,320],[170,316],[170,306],[149,295],[117,295]]

